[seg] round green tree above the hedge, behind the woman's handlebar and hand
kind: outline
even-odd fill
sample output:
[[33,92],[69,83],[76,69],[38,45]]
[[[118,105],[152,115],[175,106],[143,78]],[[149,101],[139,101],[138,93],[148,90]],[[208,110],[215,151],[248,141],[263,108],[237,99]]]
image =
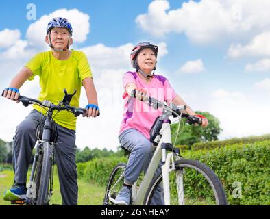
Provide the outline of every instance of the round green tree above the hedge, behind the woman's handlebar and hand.
[[[184,130],[180,135],[178,135],[176,145],[177,144],[185,144],[188,146],[191,146],[194,143],[197,142],[210,142],[213,140],[218,140],[219,133],[222,131],[222,129],[219,127],[219,119],[214,117],[209,112],[199,112],[196,111],[196,114],[201,114],[203,116],[206,116],[208,118],[209,124],[208,127],[202,128],[202,127],[195,127],[194,125],[188,125],[186,124],[184,127]],[[184,119],[184,122],[186,122],[186,119]],[[171,133],[175,133],[177,131],[178,123],[173,124],[171,126]],[[182,129],[182,127],[180,127]],[[173,143],[175,142],[175,136],[172,136]]]

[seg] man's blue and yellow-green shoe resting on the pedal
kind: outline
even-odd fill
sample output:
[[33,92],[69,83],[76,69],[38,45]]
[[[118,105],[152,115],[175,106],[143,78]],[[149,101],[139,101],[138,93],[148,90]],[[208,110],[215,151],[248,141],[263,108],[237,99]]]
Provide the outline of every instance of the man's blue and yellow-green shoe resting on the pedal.
[[10,190],[6,190],[3,194],[4,201],[19,201],[26,197],[26,186],[24,184],[12,185]]

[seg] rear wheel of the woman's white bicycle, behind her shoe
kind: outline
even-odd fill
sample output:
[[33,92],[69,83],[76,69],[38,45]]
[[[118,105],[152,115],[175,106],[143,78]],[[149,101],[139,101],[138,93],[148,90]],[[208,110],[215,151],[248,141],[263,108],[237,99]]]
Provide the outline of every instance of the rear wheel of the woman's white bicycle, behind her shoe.
[[117,164],[112,172],[106,186],[105,196],[103,199],[103,205],[114,205],[114,199],[118,195],[123,186],[125,163]]

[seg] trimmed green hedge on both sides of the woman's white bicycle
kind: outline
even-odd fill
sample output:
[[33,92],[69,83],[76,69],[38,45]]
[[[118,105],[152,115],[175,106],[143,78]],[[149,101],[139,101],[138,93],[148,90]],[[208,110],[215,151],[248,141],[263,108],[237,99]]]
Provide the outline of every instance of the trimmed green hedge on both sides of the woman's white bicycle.
[[[230,205],[270,205],[270,140],[212,150],[187,150],[182,155],[214,170],[223,183]],[[127,157],[106,157],[77,164],[78,176],[106,185],[112,168],[119,162],[127,162]],[[241,183],[241,198],[232,195],[236,190],[235,182]]]

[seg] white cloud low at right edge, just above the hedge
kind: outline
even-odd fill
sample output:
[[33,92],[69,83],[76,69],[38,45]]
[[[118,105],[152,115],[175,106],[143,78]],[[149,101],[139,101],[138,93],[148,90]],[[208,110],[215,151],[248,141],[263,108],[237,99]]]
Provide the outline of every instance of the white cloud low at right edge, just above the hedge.
[[212,93],[209,105],[209,112],[221,122],[222,139],[269,133],[270,117],[265,116],[263,120],[256,118],[256,113],[266,115],[269,111],[269,103],[258,101],[256,96],[224,89]]

